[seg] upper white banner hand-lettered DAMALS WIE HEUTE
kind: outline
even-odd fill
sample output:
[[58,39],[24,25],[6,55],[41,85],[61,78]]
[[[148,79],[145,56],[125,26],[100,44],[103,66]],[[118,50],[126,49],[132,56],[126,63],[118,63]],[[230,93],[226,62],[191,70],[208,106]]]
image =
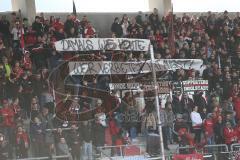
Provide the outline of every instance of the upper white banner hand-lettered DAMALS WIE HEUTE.
[[55,42],[57,51],[148,51],[150,40],[128,38],[69,38]]

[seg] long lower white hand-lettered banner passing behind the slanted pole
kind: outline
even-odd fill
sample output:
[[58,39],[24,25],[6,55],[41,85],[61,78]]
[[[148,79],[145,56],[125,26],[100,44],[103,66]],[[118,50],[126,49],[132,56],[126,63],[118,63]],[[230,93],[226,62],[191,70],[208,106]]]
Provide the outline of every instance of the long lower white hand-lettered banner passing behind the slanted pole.
[[[200,59],[161,59],[155,60],[156,71],[176,69],[199,70],[202,66]],[[69,62],[70,75],[109,75],[109,74],[139,74],[152,72],[151,61],[145,62],[111,62],[111,61],[85,61]]]

